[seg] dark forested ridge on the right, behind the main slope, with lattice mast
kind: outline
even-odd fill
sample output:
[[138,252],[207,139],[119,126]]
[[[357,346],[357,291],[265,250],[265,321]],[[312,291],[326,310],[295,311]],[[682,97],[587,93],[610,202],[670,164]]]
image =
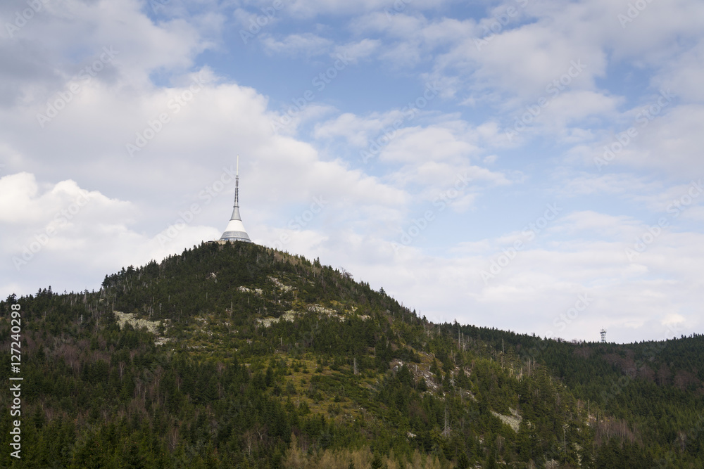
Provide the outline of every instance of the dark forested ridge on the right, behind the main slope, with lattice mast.
[[517,368],[543,364],[593,418],[627,421],[637,438],[626,452],[650,458],[631,467],[698,467],[704,460],[704,335],[613,344],[565,342],[456,322],[439,328],[448,336],[459,332],[472,346],[476,338],[494,359]]

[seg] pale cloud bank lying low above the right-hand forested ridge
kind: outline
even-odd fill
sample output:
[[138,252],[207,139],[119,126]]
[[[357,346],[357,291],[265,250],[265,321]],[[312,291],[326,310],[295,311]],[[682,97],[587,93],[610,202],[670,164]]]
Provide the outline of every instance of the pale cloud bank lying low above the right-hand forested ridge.
[[[701,238],[693,233],[688,236]],[[345,248],[339,249],[340,245]],[[659,250],[667,245],[672,245],[667,248],[671,250],[667,264],[660,264]],[[623,248],[620,241],[590,240],[568,241],[550,249],[529,247],[489,285],[484,285],[479,272],[487,269],[496,255],[486,250],[484,242],[470,248],[472,255],[442,258],[424,255],[413,247],[394,252],[384,240],[343,237],[330,238],[316,253],[333,265],[346,266],[355,278],[370,281],[373,288],[383,286],[434,321],[458,319],[520,333],[582,340],[598,340],[598,331],[606,327],[610,339],[617,341],[644,336],[660,339],[672,337],[674,332],[679,336],[679,332],[688,333],[700,325],[695,298],[701,281],[670,278],[700,278],[696,263],[681,261],[699,257],[701,249],[662,238],[659,246],[650,246],[653,251],[643,255],[641,264],[634,265],[627,262]],[[567,311],[585,295],[588,306],[570,319]],[[673,317],[681,328],[662,326],[670,324]]]

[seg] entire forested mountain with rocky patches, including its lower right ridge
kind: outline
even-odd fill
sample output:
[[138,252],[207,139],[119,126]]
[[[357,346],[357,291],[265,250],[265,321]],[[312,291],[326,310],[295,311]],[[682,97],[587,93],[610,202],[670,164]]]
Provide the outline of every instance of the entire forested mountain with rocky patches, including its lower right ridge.
[[[6,349],[17,304],[22,458],[4,450],[2,467],[704,467],[702,335],[436,324],[249,243],[130,266],[97,292],[12,295]],[[17,417],[0,415],[7,449]]]

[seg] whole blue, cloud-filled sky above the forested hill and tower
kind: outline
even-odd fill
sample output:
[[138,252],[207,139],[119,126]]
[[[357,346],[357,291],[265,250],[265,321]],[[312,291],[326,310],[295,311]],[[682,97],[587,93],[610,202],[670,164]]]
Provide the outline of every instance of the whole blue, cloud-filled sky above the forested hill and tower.
[[700,0],[8,0],[0,297],[220,237],[431,321],[703,333]]

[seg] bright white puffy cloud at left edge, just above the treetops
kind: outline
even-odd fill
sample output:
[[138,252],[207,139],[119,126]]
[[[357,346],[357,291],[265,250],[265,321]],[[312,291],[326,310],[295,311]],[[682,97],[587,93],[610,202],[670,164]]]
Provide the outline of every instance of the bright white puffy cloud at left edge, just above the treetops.
[[5,176],[0,186],[1,283],[20,285],[20,292],[36,287],[37,281],[80,288],[86,273],[95,282],[120,262],[144,263],[168,254],[156,238],[129,227],[139,214],[129,202],[87,191],[75,181],[40,185],[28,173]]

